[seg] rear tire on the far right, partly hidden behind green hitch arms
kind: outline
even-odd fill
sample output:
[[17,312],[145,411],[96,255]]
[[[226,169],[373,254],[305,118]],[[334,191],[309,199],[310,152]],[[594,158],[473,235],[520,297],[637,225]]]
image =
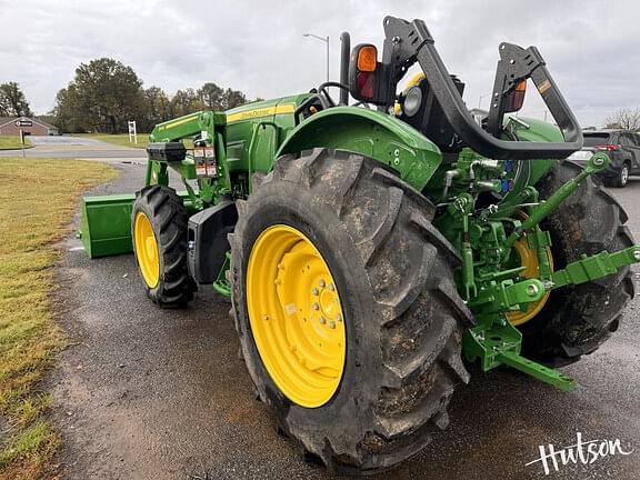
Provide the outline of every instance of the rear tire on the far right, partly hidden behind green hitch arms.
[[[541,198],[549,198],[581,170],[570,161],[558,163],[537,186]],[[627,219],[622,207],[597,181],[582,181],[541,224],[551,234],[554,268],[564,268],[582,253],[633,246]],[[618,329],[633,293],[629,267],[597,281],[552,291],[540,313],[520,327],[523,353],[556,367],[578,361]]]

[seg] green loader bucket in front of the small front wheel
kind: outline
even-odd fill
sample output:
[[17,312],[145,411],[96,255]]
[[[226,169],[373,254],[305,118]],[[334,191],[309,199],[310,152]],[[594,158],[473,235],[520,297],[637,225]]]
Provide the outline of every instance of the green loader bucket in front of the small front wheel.
[[136,194],[83,197],[80,238],[89,258],[131,253],[131,207]]

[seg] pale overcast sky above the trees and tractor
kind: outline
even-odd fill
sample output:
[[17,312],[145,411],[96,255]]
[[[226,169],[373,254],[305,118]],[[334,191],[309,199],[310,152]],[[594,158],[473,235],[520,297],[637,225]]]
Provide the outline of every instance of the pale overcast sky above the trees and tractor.
[[[0,0],[0,82],[19,82],[44,113],[81,62],[111,57],[170,94],[213,81],[250,98],[284,96],[324,79],[324,44],[302,33],[330,37],[337,79],[340,32],[381,46],[387,14],[427,22],[470,108],[491,91],[500,41],[540,49],[582,126],[640,107],[632,0]],[[527,113],[542,117],[532,97]]]

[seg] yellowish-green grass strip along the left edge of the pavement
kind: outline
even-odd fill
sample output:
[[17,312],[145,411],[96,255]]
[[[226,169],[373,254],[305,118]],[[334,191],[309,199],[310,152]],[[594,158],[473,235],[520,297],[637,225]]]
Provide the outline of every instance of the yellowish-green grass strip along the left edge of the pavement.
[[64,344],[51,312],[54,242],[69,233],[80,193],[116,176],[90,161],[0,158],[1,480],[50,473],[59,440],[38,382]]

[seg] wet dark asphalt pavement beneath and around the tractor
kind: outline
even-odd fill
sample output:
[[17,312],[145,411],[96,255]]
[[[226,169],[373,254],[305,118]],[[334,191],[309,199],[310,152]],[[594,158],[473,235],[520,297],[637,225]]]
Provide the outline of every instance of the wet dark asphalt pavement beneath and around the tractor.
[[[91,193],[131,192],[143,167]],[[613,191],[640,239],[640,180]],[[237,357],[230,303],[202,288],[184,311],[160,310],[131,256],[89,260],[69,239],[59,268],[59,317],[71,347],[50,383],[68,479],[324,479],[279,436]],[[554,479],[640,478],[640,301],[598,352],[566,369],[562,393],[507,369],[473,368],[450,407],[450,428],[380,478],[541,479],[539,446],[620,439],[629,456],[567,466]],[[208,477],[207,477],[208,476]]]

